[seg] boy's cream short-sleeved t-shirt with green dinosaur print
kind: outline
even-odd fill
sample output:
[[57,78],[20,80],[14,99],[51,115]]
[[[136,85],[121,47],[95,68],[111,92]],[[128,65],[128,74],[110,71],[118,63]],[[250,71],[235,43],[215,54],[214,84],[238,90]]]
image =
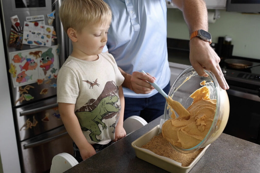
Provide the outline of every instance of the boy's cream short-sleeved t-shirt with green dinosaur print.
[[114,139],[120,115],[119,86],[124,77],[114,57],[101,53],[95,61],[69,56],[57,78],[57,102],[75,104],[75,114],[90,144]]

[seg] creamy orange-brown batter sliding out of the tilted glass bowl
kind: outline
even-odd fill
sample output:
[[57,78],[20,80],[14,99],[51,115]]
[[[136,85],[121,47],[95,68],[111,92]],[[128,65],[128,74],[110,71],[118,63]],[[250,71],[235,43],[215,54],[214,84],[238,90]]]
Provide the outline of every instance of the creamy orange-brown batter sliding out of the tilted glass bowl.
[[[205,85],[205,82],[201,85]],[[179,117],[176,118],[172,111],[172,119],[162,125],[162,135],[172,145],[182,149],[190,149],[204,139],[216,112],[216,100],[210,99],[206,86],[197,89],[190,97],[193,98],[193,102],[187,110],[170,97],[166,99]]]

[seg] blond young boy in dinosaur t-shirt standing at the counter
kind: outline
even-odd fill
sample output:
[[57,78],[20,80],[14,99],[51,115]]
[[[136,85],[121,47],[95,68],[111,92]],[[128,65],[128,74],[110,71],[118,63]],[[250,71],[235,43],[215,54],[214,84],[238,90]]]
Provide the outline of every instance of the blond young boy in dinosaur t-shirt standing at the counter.
[[73,51],[57,79],[59,111],[78,162],[126,136],[124,96],[113,56],[101,53],[112,19],[102,0],[63,0],[59,10]]

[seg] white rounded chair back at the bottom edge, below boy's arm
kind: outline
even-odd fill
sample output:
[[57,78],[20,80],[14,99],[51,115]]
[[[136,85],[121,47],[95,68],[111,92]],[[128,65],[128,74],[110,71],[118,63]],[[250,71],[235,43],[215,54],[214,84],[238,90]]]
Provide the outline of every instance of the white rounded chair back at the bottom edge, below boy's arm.
[[79,162],[68,153],[60,153],[51,161],[50,173],[62,173],[74,167]]

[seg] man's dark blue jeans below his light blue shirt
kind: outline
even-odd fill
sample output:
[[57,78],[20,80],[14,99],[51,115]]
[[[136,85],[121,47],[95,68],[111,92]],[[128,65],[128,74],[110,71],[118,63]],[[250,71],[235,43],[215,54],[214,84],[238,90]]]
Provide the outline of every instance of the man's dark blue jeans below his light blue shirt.
[[[170,82],[163,89],[168,94]],[[132,115],[140,116],[148,123],[164,114],[166,99],[160,93],[148,98],[129,98],[125,97],[124,120]]]

